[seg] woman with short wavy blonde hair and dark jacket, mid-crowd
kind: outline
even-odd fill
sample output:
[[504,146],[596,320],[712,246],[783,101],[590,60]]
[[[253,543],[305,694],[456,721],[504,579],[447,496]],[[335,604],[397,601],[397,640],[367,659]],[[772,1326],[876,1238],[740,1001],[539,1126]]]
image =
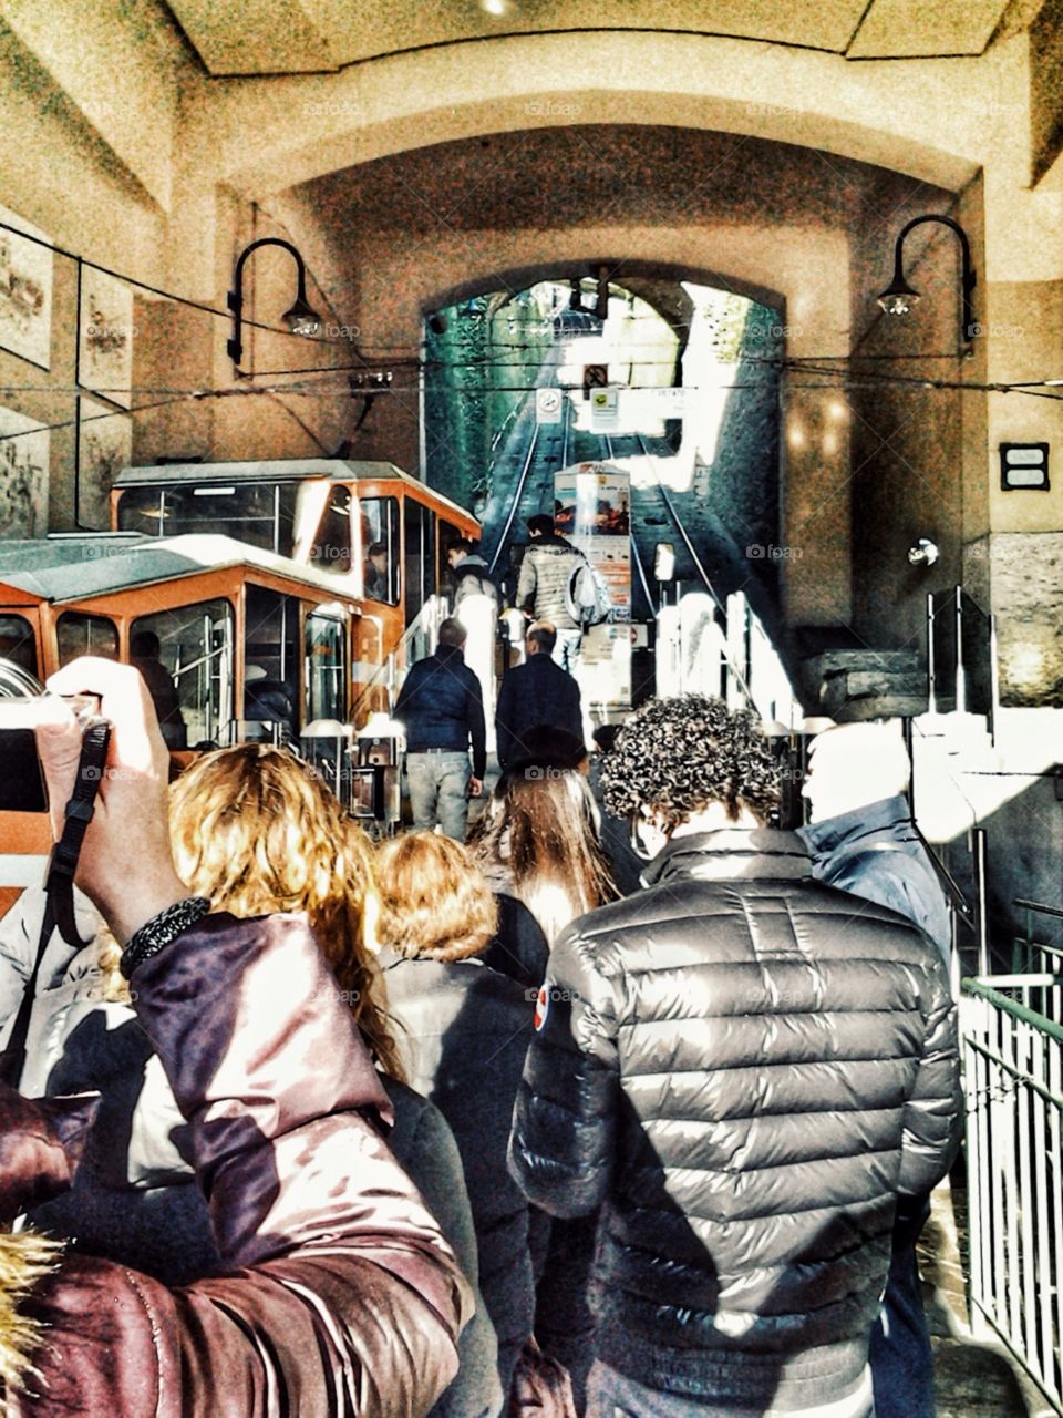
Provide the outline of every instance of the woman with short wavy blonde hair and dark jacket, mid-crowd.
[[404,1034],[410,1082],[439,1107],[458,1140],[480,1289],[509,1394],[534,1319],[534,1222],[509,1176],[506,1149],[537,987],[527,990],[483,963],[497,905],[459,842],[425,831],[391,838],[377,848],[377,882],[388,1001]]

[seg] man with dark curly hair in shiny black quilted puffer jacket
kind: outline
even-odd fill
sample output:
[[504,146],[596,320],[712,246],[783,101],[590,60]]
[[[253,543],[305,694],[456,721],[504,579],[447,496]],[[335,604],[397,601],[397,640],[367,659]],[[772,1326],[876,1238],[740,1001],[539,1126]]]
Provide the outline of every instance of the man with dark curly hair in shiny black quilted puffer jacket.
[[588,1415],[869,1418],[897,1194],[961,1116],[941,959],[765,825],[751,715],[651,700],[604,786],[648,888],[554,946],[510,1137],[530,1201],[602,1207]]

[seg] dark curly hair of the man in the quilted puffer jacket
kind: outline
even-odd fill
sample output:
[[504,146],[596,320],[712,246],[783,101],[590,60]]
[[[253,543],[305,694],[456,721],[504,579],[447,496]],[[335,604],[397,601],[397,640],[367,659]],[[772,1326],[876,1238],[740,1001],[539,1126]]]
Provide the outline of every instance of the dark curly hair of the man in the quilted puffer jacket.
[[780,767],[755,715],[723,699],[651,699],[628,719],[602,759],[601,786],[614,817],[653,808],[676,827],[710,803],[767,822],[780,803]]

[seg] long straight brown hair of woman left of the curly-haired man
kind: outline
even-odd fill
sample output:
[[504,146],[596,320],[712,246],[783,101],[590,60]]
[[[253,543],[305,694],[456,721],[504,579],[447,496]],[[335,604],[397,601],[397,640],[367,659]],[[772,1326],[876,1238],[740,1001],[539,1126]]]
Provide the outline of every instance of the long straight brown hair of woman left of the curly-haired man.
[[499,868],[512,873],[514,893],[550,944],[570,920],[619,895],[598,845],[594,795],[577,769],[505,773],[469,845],[489,875]]

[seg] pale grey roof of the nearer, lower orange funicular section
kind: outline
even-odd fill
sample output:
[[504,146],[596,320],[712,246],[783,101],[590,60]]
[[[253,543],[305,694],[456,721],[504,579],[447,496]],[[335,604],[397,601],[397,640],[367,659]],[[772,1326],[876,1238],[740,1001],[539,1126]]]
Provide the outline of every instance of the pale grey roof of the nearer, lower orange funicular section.
[[325,593],[329,600],[344,596],[336,577],[326,571],[213,532],[174,537],[128,532],[62,535],[0,542],[0,587],[55,604],[230,567],[271,571]]

